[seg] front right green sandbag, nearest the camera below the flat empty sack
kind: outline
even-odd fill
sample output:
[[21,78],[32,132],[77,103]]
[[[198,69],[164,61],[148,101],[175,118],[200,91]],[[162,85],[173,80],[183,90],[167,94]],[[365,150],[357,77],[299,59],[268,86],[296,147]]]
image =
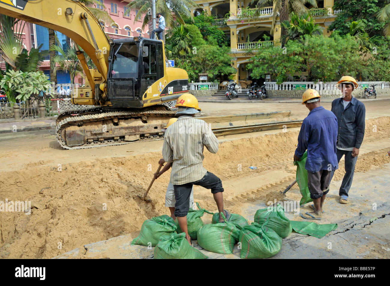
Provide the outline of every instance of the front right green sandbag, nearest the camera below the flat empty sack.
[[252,222],[250,226],[244,226],[240,242],[240,258],[269,258],[282,248],[282,238],[267,227],[267,222],[263,225]]

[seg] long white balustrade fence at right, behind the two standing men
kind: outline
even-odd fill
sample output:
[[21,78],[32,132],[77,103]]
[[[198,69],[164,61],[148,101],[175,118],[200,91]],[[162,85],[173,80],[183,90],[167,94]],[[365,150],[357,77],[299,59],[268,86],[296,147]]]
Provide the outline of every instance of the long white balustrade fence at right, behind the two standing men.
[[[339,88],[337,82],[266,82],[266,89],[270,91],[293,91],[296,89],[316,89],[320,95],[322,94],[338,94]],[[363,90],[365,87],[375,85],[376,89],[390,89],[390,82],[358,82],[356,90]]]

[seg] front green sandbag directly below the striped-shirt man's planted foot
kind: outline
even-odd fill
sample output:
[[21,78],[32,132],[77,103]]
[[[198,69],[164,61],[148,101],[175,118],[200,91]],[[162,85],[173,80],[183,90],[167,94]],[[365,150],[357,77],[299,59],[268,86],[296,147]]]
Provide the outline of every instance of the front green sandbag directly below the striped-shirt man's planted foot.
[[206,259],[199,250],[191,247],[185,233],[172,233],[160,238],[154,248],[154,259]]

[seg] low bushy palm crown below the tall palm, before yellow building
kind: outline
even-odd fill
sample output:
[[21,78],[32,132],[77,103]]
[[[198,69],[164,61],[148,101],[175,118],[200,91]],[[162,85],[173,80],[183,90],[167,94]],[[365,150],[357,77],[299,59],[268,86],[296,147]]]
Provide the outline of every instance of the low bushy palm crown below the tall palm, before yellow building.
[[316,24],[314,18],[310,16],[308,12],[304,12],[299,15],[292,12],[291,21],[283,21],[280,23],[280,27],[286,30],[286,35],[282,36],[282,41],[285,43],[287,40],[299,39],[303,35],[321,35],[322,28]]

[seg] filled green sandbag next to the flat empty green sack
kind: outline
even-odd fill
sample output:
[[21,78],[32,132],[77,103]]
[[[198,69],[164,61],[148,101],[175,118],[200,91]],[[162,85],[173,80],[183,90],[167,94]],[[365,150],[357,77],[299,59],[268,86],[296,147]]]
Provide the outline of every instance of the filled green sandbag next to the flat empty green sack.
[[276,207],[269,206],[268,208],[257,210],[254,221],[262,225],[268,218],[267,226],[273,229],[281,238],[289,236],[291,231],[293,231],[290,220],[285,217],[284,209],[280,204]]

